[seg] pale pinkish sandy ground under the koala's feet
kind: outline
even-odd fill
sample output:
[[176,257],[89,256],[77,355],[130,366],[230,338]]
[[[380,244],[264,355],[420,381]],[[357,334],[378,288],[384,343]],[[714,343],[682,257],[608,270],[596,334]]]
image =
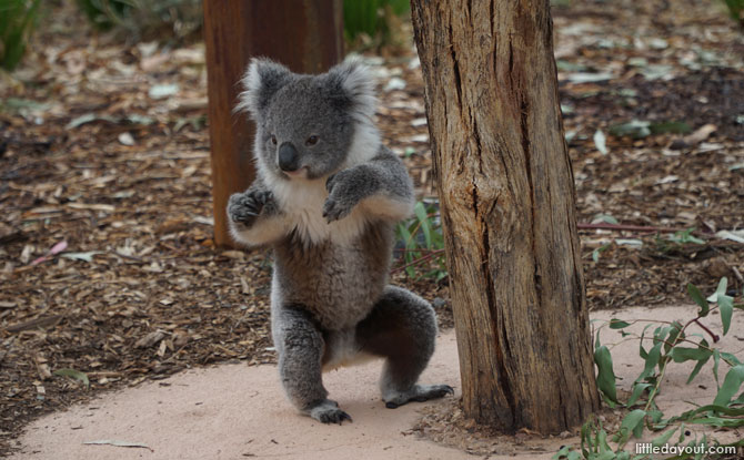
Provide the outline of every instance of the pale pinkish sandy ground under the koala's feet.
[[[670,320],[690,318],[694,310],[695,307],[632,308],[616,316],[626,320]],[[612,316],[615,316],[613,311],[605,310],[593,318]],[[721,333],[717,315],[706,318],[705,324]],[[643,325],[634,327],[642,329]],[[744,358],[744,315],[734,314],[731,329],[720,346]],[[692,326],[690,333],[702,330]],[[605,328],[602,343],[619,344],[612,351],[615,374],[622,378],[621,388],[630,387],[641,370],[637,340],[623,341],[617,331]],[[273,366],[222,365],[184,371],[39,419],[28,427],[20,439],[22,451],[12,459],[477,458],[412,435],[410,429],[419,419],[422,405],[385,409],[376,388],[380,367],[380,362],[373,362],[325,375],[331,397],[354,419],[353,423],[341,427],[324,426],[299,416],[285,400]],[[710,364],[691,386],[685,387],[691,368],[684,365],[670,368],[665,378],[667,386],[658,397],[665,413],[690,409],[691,406],[683,401],[712,401],[716,387]],[[722,377],[725,370],[722,366]],[[422,381],[460,387],[453,331],[440,337],[436,354]],[[742,435],[733,431],[725,436],[741,438]],[[127,441],[147,448],[84,443],[101,440]],[[554,449],[572,441],[575,439],[555,439]],[[549,459],[551,454],[525,451],[521,457]]]

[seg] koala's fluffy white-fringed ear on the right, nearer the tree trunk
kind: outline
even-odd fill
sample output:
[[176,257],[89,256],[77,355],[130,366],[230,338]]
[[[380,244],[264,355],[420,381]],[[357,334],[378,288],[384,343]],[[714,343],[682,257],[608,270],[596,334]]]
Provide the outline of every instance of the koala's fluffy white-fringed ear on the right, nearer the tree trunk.
[[370,69],[358,58],[349,58],[331,68],[328,84],[333,98],[348,105],[356,115],[372,117],[378,99],[374,95],[374,78]]

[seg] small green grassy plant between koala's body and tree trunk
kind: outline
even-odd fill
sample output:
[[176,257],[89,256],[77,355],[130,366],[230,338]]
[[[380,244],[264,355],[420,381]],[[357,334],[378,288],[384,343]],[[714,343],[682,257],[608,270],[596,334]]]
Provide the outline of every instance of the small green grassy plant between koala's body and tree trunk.
[[[426,206],[419,202],[414,208],[415,216],[395,227],[398,241],[401,243],[395,253],[402,254],[402,264],[393,270],[405,270],[416,278],[423,275],[440,280],[446,276],[444,265],[444,238],[435,204]],[[424,265],[425,264],[425,265]],[[425,266],[428,270],[421,270]]]

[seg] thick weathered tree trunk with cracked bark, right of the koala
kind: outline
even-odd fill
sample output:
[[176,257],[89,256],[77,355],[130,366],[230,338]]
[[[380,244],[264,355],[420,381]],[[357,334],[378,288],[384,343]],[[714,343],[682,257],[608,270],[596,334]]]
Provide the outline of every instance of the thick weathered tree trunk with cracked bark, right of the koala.
[[547,0],[412,0],[463,409],[555,433],[599,408]]

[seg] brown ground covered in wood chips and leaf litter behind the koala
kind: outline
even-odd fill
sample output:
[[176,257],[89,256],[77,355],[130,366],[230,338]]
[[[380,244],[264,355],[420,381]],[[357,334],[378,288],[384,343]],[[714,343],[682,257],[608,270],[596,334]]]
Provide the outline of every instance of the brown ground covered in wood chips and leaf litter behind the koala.
[[[744,32],[714,0],[553,13],[590,307],[675,304],[722,276],[741,298],[744,235],[718,232],[744,227]],[[274,359],[270,262],[211,239],[203,47],[124,45],[81,21],[56,12],[0,73],[0,454],[102,391]],[[431,196],[420,68],[388,54],[370,58],[378,121]],[[702,243],[673,233],[693,227]],[[393,280],[451,325],[446,278]]]

